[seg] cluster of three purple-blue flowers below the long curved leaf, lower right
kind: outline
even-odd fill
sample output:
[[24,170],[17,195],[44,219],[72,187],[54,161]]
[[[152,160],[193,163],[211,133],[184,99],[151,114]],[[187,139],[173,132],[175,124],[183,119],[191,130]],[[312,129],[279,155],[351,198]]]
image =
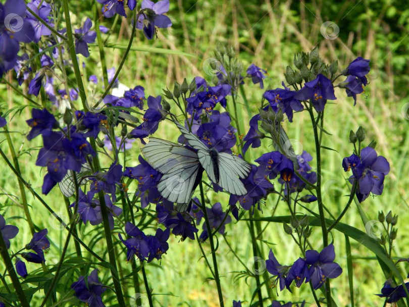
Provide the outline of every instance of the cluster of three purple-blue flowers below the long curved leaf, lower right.
[[298,258],[292,266],[280,265],[270,249],[266,266],[271,275],[277,276],[274,284],[280,284],[280,291],[287,288],[291,292],[290,285],[293,281],[299,288],[303,282],[308,283],[311,280],[314,289],[319,289],[327,278],[336,278],[341,275],[342,269],[334,260],[334,245],[331,243],[321,252],[307,250],[305,258]]

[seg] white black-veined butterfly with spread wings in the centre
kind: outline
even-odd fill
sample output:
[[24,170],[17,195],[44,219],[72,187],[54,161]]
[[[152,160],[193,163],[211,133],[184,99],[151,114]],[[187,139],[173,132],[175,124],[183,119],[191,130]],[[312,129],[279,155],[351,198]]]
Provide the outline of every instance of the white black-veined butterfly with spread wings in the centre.
[[157,188],[165,199],[189,203],[203,170],[226,191],[235,195],[247,194],[240,179],[250,173],[249,163],[226,152],[218,152],[214,147],[209,148],[185,127],[175,124],[193,149],[155,137],[149,138],[141,149],[147,163],[163,174]]

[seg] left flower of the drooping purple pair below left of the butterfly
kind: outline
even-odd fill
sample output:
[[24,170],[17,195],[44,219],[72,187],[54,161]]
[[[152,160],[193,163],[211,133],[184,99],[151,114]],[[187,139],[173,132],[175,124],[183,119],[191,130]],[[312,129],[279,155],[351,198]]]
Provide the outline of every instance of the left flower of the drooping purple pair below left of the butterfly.
[[118,234],[118,236],[127,248],[126,260],[133,259],[133,255],[136,255],[141,261],[146,260],[150,251],[146,235],[130,222],[126,223],[125,231],[131,238],[123,240],[121,234]]

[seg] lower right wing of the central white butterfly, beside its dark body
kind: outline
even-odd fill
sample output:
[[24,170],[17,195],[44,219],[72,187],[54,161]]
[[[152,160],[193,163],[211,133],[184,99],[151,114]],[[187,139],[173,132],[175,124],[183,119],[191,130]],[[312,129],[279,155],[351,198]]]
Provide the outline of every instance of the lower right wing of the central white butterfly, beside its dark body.
[[219,152],[219,185],[235,195],[247,194],[247,189],[239,178],[244,179],[251,171],[251,165],[237,156]]

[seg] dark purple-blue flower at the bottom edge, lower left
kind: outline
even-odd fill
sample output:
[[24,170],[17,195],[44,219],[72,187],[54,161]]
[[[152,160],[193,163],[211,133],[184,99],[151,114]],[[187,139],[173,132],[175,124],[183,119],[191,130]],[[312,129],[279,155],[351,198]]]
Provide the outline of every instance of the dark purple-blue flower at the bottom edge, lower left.
[[107,289],[99,282],[97,269],[94,269],[89,274],[87,281],[85,283],[84,277],[80,276],[78,281],[71,284],[71,288],[75,291],[75,296],[87,303],[89,307],[104,307],[101,294]]

